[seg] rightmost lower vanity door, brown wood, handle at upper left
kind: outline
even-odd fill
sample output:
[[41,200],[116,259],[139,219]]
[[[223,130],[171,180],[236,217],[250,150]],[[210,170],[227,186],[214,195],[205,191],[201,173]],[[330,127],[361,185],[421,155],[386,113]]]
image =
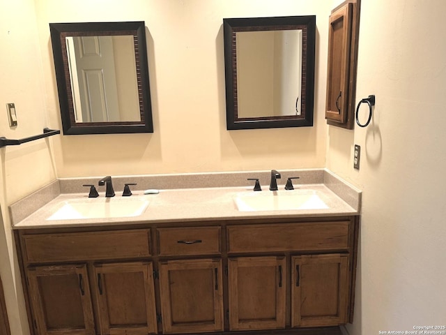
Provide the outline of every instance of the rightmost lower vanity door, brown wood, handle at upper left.
[[348,255],[295,256],[292,264],[292,326],[345,324],[348,320]]

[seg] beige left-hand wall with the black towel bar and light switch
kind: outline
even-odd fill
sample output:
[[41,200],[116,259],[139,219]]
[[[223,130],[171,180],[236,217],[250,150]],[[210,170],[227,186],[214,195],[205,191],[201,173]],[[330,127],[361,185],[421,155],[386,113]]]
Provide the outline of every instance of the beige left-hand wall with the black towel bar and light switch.
[[[20,139],[49,126],[33,0],[1,1],[0,136]],[[18,126],[10,128],[6,103],[15,103]],[[27,334],[8,204],[56,178],[48,140],[0,149],[0,276],[12,334]]]

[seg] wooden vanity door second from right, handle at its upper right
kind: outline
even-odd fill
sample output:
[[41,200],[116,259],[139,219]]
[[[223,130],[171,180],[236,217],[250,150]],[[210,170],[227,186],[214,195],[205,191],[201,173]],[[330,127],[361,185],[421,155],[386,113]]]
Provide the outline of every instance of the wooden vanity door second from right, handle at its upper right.
[[285,327],[285,258],[229,258],[229,328]]

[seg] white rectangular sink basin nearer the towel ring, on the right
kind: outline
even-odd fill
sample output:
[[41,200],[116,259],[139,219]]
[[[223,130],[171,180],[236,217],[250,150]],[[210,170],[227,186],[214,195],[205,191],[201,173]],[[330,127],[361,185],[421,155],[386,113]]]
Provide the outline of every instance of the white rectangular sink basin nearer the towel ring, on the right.
[[240,193],[234,201],[239,211],[328,209],[316,191],[305,190]]

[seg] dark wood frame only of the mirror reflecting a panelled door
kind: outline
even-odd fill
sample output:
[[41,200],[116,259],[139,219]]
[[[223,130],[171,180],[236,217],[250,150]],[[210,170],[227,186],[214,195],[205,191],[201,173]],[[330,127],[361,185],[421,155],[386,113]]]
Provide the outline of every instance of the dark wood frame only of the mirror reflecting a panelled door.
[[[153,133],[144,21],[50,23],[57,90],[64,135]],[[141,121],[76,122],[66,48],[68,36],[133,36]]]

